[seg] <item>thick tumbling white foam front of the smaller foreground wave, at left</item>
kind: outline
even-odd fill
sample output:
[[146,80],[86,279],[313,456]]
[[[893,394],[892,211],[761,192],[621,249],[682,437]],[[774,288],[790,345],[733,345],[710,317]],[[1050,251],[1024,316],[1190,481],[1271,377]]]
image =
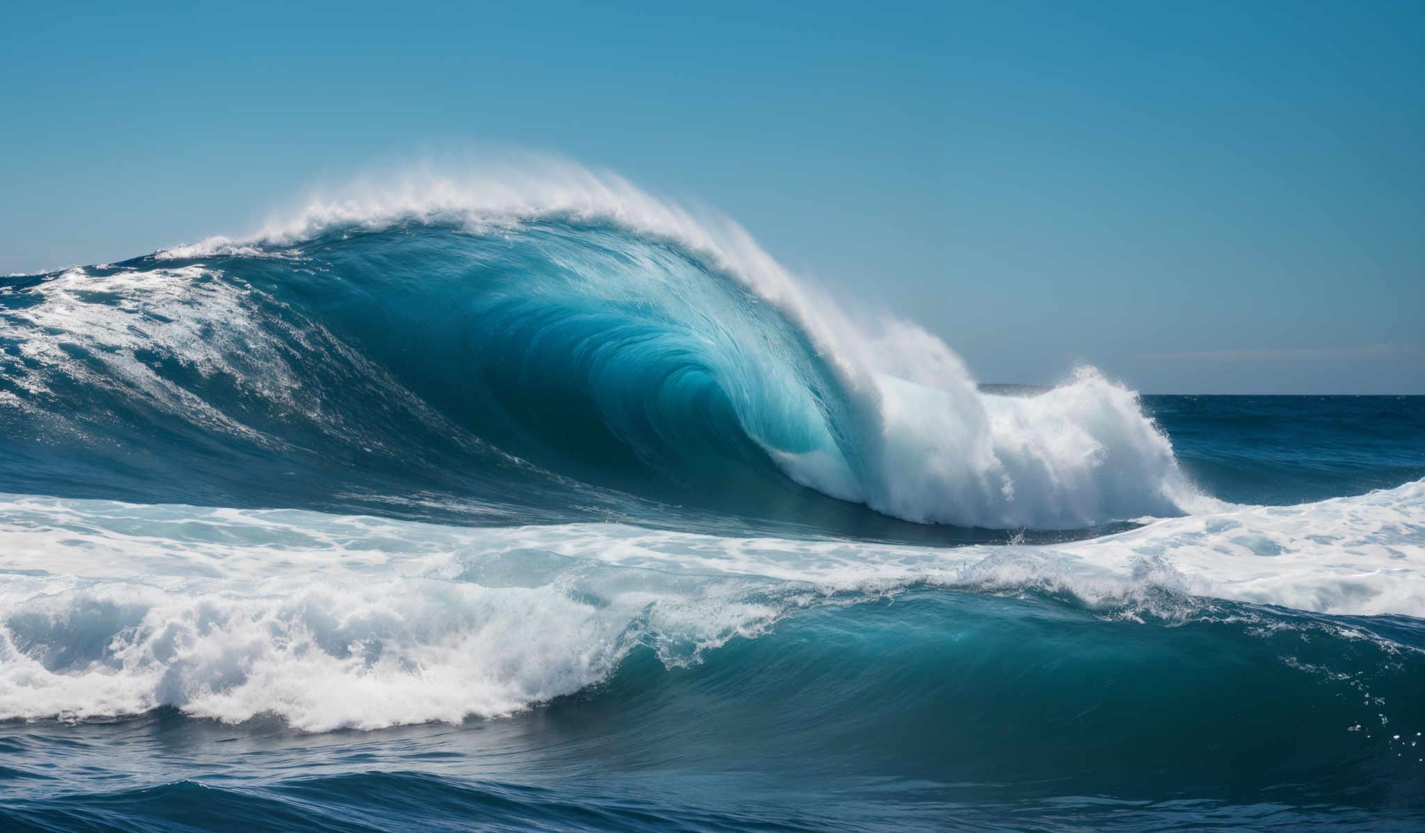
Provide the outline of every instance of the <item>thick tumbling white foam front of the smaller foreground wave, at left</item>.
[[[13,583],[13,582],[11,582]],[[422,578],[24,582],[7,588],[0,716],[124,715],[172,705],[239,722],[275,713],[308,730],[497,716],[607,678],[644,633],[698,648],[774,613],[700,588],[590,603],[557,586]],[[711,598],[711,599],[710,599]]]

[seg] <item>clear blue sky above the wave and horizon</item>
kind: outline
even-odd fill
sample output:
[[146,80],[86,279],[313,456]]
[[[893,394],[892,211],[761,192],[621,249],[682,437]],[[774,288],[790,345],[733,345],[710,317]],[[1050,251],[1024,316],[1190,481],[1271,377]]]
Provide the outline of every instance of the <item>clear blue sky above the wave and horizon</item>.
[[507,147],[712,205],[986,381],[1425,392],[1422,3],[0,11],[0,272]]

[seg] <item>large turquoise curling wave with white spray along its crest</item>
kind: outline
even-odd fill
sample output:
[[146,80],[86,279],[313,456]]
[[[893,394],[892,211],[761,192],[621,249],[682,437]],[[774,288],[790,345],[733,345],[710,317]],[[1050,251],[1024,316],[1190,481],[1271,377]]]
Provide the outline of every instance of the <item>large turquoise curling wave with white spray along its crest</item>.
[[358,458],[385,452],[446,482],[490,468],[430,454],[453,444],[789,521],[835,512],[805,488],[992,529],[1211,505],[1136,394],[1096,371],[980,394],[923,329],[854,321],[737,225],[583,171],[359,191],[252,240],[7,285],[11,434],[43,422],[103,446],[164,425],[195,479],[231,478],[234,441],[272,469],[302,451],[368,471]]

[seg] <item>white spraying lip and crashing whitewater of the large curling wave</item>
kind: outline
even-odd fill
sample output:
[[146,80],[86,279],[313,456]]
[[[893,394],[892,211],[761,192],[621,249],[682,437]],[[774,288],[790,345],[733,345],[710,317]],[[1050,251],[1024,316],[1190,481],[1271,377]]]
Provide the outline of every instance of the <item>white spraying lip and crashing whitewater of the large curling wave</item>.
[[[295,217],[272,221],[249,240],[211,238],[165,250],[158,257],[299,258],[302,245],[322,235],[380,231],[408,223],[423,224],[432,234],[456,228],[476,247],[512,235],[529,242],[519,235],[532,225],[569,231],[583,223],[611,223],[624,230],[616,245],[620,255],[634,261],[626,264],[630,272],[654,262],[646,255],[656,241],[677,241],[690,262],[707,264],[698,265],[704,270],[694,278],[698,285],[685,282],[680,291],[705,290],[705,301],[727,308],[688,311],[675,301],[654,297],[667,282],[664,274],[624,274],[618,285],[607,281],[597,288],[564,285],[559,292],[586,307],[598,307],[611,294],[624,302],[618,315],[627,315],[631,305],[651,302],[673,318],[660,324],[664,337],[724,335],[721,341],[712,339],[717,344],[704,345],[705,352],[691,361],[698,368],[712,368],[712,382],[734,399],[741,429],[791,479],[826,495],[915,522],[1000,529],[1074,529],[1217,506],[1198,495],[1178,471],[1167,438],[1143,416],[1136,395],[1097,372],[1083,368],[1069,382],[1035,399],[982,395],[963,362],[939,338],[901,321],[869,325],[854,321],[826,297],[808,292],[734,223],[694,217],[617,177],[571,167],[513,180],[418,175],[314,200]],[[567,258],[570,252],[559,257]],[[579,262],[571,270],[581,277],[610,267],[593,245],[574,257]],[[809,415],[808,409],[825,404],[828,394],[805,378],[794,378],[791,387],[781,388],[788,402],[799,401],[804,407],[771,401],[788,378],[785,357],[775,352],[797,335],[782,337],[778,344],[764,339],[760,355],[738,355],[750,331],[737,328],[765,324],[750,324],[747,317],[734,320],[732,292],[707,290],[721,280],[720,272],[735,278],[755,298],[771,302],[809,341],[815,351],[812,361],[825,368],[832,388],[839,391],[831,394],[842,398],[839,411],[822,407],[819,416]],[[529,342],[523,347],[504,347],[529,349],[557,332],[571,351],[596,349],[601,334],[570,332],[567,311],[550,310],[550,318],[564,318],[540,329],[526,328]],[[598,312],[608,310],[601,307]],[[608,317],[603,320],[607,322]],[[685,347],[670,341],[664,355]],[[648,369],[633,367],[633,351],[623,351],[620,358],[627,372]],[[668,364],[665,358],[654,361]],[[795,368],[791,372],[804,375]],[[758,388],[762,388],[760,395]],[[606,399],[611,397],[607,394]],[[794,412],[798,408],[801,412]],[[792,426],[788,419],[799,425]],[[788,446],[779,441],[788,435],[821,439],[809,446],[807,442]]]

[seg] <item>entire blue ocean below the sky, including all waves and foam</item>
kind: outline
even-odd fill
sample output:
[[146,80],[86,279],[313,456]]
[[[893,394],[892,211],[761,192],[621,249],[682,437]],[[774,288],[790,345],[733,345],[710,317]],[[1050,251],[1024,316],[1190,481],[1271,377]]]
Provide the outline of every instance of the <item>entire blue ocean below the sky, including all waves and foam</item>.
[[1421,732],[1422,397],[982,387],[594,177],[0,278],[3,830],[1419,830]]

